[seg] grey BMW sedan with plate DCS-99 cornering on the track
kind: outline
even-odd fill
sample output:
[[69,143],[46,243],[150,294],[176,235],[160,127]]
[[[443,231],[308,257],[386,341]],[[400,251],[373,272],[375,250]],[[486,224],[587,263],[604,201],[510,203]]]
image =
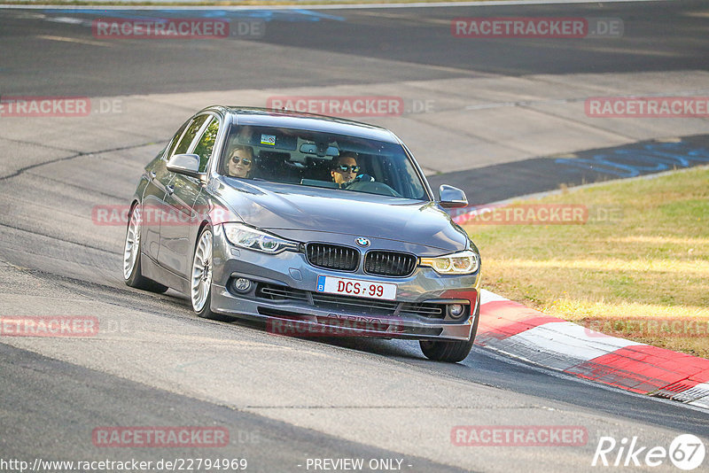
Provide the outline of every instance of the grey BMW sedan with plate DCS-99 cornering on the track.
[[184,122],[132,198],[123,276],[190,296],[200,317],[296,337],[419,341],[463,361],[478,327],[480,257],[386,128],[212,106]]

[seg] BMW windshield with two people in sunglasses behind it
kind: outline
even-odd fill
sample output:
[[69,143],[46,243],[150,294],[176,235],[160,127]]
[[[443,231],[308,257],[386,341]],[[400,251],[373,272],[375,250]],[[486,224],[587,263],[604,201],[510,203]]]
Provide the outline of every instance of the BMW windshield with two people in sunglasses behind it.
[[429,199],[401,144],[294,128],[232,128],[219,172],[244,179]]

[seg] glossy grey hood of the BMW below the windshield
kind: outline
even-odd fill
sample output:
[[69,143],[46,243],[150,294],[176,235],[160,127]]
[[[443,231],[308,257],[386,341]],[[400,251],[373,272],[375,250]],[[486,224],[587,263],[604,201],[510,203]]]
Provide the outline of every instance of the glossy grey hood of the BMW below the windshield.
[[[297,232],[322,232],[394,240],[455,252],[468,237],[433,202],[392,198],[347,190],[225,178],[217,193],[254,227],[297,238]],[[347,240],[350,240],[348,238]]]

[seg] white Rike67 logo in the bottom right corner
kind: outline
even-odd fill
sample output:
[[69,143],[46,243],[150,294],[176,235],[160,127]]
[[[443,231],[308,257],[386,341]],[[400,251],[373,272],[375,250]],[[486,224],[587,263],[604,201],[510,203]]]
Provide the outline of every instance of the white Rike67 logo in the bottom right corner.
[[690,471],[702,465],[705,453],[704,442],[692,434],[675,437],[669,448],[643,446],[637,437],[621,438],[619,442],[612,437],[601,437],[591,466],[654,468],[669,459],[678,469]]

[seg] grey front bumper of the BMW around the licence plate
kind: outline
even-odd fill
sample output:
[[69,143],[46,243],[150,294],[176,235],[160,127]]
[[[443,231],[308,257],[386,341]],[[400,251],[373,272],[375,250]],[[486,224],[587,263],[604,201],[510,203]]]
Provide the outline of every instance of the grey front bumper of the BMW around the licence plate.
[[[262,320],[279,335],[303,337],[386,337],[469,340],[479,316],[479,271],[438,275],[419,267],[407,277],[383,277],[358,271],[316,268],[301,252],[268,254],[231,245],[221,225],[214,228],[211,308],[214,313]],[[395,301],[316,292],[320,275],[372,283],[395,283]],[[245,278],[249,290],[233,281]],[[456,319],[447,306],[462,304]]]

